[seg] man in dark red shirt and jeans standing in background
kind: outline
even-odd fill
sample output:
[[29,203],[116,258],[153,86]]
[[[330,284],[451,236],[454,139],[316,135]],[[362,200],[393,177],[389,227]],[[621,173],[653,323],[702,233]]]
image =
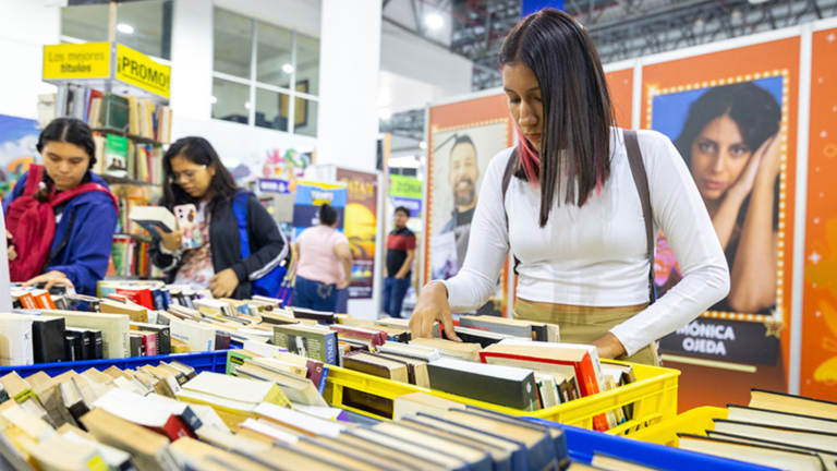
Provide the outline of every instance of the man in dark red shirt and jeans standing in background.
[[412,279],[415,234],[407,228],[410,209],[399,206],[392,216],[396,228],[387,237],[387,263],[384,265],[384,313],[401,317],[401,305]]

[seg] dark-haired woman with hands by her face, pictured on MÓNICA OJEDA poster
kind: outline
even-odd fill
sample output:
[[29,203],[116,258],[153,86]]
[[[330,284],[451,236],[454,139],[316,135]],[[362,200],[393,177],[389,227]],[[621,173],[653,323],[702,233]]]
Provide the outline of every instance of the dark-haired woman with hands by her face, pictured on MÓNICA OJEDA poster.
[[[719,86],[692,104],[675,141],[729,264],[729,295],[712,311],[768,314],[776,304],[780,121],[766,89]],[[672,275],[668,286],[681,278]]]

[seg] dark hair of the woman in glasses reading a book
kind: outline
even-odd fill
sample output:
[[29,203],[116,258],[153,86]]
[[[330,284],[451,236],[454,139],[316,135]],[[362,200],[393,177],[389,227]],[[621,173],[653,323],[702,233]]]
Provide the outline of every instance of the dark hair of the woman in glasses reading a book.
[[209,141],[203,137],[183,137],[179,138],[172,144],[162,156],[162,171],[163,171],[163,184],[162,184],[162,200],[160,205],[171,209],[181,204],[194,204],[197,206],[201,202],[198,198],[190,196],[189,193],[183,191],[179,184],[172,181],[171,159],[174,157],[183,157],[186,160],[206,166],[215,169],[215,176],[209,183],[208,192],[211,192],[213,198],[206,207],[206,212],[209,215],[215,215],[215,209],[218,207],[218,203],[232,201],[235,195],[235,190],[239,188],[235,185],[235,179],[232,178],[232,173],[227,170],[221,159],[218,157],[218,153],[215,152]]

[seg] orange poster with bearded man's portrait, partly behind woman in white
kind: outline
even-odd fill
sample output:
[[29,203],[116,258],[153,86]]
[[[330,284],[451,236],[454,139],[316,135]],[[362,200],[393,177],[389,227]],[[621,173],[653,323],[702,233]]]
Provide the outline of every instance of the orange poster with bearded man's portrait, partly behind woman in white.
[[[430,108],[424,283],[448,279],[462,267],[483,176],[490,159],[513,143],[506,95]],[[480,314],[505,315],[507,271]]]

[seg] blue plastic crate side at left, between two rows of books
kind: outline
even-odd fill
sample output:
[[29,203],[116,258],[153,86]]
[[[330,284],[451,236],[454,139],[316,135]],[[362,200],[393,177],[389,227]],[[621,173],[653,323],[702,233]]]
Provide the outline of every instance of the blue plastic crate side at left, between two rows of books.
[[38,363],[27,366],[0,366],[0,376],[16,371],[22,377],[31,376],[43,371],[50,376],[58,376],[70,370],[83,373],[89,369],[99,371],[116,366],[120,370],[136,370],[145,365],[158,365],[160,362],[179,361],[195,369],[196,372],[214,372],[225,374],[227,372],[227,350],[210,352],[172,353],[168,355],[132,357],[126,359],[87,360],[78,362]]

